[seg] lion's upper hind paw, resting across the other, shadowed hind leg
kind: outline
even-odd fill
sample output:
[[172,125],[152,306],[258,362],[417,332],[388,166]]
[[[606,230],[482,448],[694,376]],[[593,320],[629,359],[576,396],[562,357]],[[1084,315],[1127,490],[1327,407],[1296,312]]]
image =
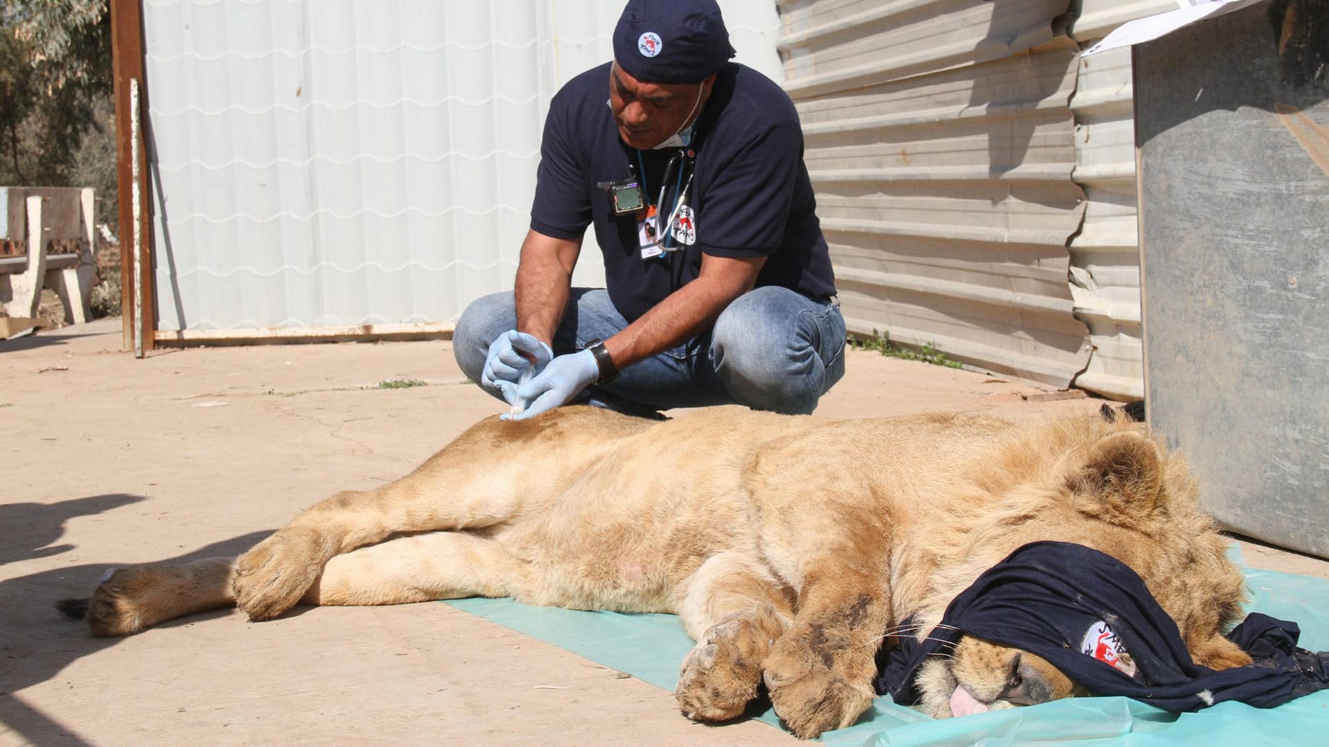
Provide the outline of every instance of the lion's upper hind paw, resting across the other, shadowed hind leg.
[[295,606],[331,557],[310,529],[282,529],[235,561],[235,606],[250,619],[271,619]]

